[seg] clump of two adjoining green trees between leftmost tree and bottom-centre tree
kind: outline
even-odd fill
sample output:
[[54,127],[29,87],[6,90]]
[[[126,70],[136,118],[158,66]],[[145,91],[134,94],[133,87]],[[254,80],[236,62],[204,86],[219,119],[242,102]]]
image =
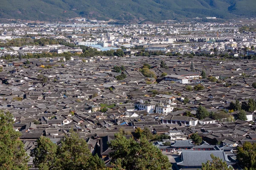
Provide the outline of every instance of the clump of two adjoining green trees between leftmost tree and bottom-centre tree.
[[70,136],[61,140],[61,145],[56,145],[49,138],[42,136],[37,140],[37,147],[31,156],[35,157],[33,163],[40,170],[103,170],[104,162],[96,155],[93,156],[84,139],[73,130]]

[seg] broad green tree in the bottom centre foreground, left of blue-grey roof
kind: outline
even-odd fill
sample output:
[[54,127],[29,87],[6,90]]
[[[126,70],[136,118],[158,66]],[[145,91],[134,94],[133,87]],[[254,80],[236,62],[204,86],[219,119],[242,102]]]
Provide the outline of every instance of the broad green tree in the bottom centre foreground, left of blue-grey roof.
[[169,170],[172,167],[168,157],[148,142],[145,136],[140,138],[140,142],[127,139],[120,133],[116,133],[115,137],[108,144],[114,150],[110,153],[113,164],[126,170]]

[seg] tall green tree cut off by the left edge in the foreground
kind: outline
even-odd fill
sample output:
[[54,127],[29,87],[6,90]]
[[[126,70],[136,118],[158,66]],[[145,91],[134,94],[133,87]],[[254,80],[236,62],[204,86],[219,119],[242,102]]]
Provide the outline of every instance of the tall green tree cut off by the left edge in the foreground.
[[28,155],[24,144],[18,140],[20,132],[13,129],[11,113],[0,111],[0,169],[28,170]]

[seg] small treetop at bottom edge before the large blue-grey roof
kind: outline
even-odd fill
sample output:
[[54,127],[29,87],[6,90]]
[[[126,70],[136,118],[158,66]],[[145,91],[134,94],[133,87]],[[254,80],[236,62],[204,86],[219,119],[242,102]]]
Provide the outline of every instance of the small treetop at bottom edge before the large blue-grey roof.
[[228,167],[226,161],[222,161],[219,157],[211,154],[212,161],[202,163],[202,170],[233,170],[233,167]]

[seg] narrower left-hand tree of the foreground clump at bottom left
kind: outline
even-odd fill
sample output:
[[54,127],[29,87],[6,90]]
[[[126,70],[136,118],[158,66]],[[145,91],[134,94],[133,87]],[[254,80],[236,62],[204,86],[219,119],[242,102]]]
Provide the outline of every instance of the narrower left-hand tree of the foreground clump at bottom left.
[[45,136],[38,139],[37,143],[37,147],[31,152],[31,156],[35,157],[33,160],[35,167],[39,170],[55,169],[57,145]]

